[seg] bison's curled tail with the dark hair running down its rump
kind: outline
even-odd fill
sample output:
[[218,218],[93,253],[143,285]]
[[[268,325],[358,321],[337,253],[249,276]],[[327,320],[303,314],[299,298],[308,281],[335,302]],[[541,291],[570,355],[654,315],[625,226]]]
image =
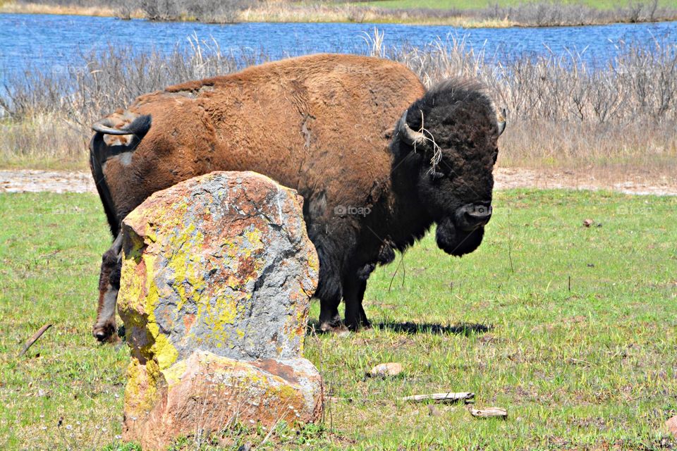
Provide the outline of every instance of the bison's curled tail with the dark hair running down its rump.
[[[150,115],[143,115],[135,118],[134,121],[124,126],[123,128],[113,128],[109,118],[102,119],[92,125],[94,130],[94,137],[90,142],[90,169],[92,170],[92,177],[94,183],[97,185],[99,197],[104,205],[106,218],[111,228],[113,237],[116,237],[120,232],[120,223],[113,203],[113,197],[106,183],[104,175],[104,163],[111,156],[115,156],[122,152],[132,151],[141,142],[152,124]],[[104,135],[133,135],[133,139],[126,145],[109,146],[104,141]]]

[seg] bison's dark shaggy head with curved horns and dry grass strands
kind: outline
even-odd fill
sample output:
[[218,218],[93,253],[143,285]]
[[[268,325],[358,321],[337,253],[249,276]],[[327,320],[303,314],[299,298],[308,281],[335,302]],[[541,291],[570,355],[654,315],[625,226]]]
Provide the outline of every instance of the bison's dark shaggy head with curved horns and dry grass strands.
[[397,132],[417,161],[418,201],[437,223],[437,245],[456,256],[482,242],[492,217],[492,170],[506,126],[475,82],[448,80],[405,111]]

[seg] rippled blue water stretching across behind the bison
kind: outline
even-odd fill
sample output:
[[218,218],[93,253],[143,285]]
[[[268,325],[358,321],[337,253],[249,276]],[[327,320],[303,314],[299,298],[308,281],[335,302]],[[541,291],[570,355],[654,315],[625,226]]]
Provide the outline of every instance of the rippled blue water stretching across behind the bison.
[[621,42],[650,46],[654,39],[677,37],[677,22],[619,24],[590,27],[475,28],[448,26],[336,24],[336,23],[152,23],[85,16],[0,14],[0,82],[31,66],[50,70],[77,64],[82,54],[112,46],[137,51],[171,51],[187,46],[188,37],[214,39],[221,51],[265,51],[272,58],[332,51],[364,53],[365,33],[374,26],[385,33],[386,46],[423,46],[449,36],[465,37],[475,49],[492,57],[522,54],[583,54],[587,62],[606,61]]

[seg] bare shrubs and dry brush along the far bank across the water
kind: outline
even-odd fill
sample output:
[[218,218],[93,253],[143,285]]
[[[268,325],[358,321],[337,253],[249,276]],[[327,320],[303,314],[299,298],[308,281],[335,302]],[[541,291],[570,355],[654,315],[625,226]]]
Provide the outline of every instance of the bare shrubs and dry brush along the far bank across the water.
[[626,6],[600,9],[560,0],[523,1],[513,6],[488,4],[484,8],[383,8],[378,1],[295,2],[262,0],[15,0],[17,4],[46,4],[66,8],[108,8],[121,18],[140,11],[150,20],[197,20],[207,23],[234,23],[255,20],[347,20],[349,22],[439,21],[443,23],[499,23],[549,27],[601,23],[639,23],[677,19],[675,8],[660,7],[658,0],[633,1]]

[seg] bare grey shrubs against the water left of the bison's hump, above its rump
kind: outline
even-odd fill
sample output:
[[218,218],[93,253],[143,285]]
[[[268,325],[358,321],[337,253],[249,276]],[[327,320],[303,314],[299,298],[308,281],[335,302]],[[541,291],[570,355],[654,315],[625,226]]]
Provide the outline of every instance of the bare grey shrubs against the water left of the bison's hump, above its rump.
[[[185,80],[222,75],[267,61],[264,53],[222,54],[215,41],[190,38],[190,49],[137,54],[113,47],[82,56],[81,66],[59,73],[29,69],[13,76],[0,96],[0,108],[15,121],[35,113],[61,113],[83,128],[126,106],[145,92]],[[87,131],[88,133],[88,131]]]

